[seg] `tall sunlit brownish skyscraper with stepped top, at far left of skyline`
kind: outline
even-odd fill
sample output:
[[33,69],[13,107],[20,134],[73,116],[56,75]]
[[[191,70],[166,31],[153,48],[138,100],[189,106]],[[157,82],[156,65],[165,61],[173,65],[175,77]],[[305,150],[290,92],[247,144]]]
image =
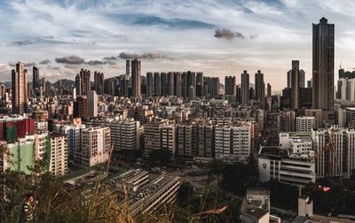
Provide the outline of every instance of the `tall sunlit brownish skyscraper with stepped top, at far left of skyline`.
[[28,104],[28,70],[19,61],[12,70],[12,113],[21,114],[27,111]]

